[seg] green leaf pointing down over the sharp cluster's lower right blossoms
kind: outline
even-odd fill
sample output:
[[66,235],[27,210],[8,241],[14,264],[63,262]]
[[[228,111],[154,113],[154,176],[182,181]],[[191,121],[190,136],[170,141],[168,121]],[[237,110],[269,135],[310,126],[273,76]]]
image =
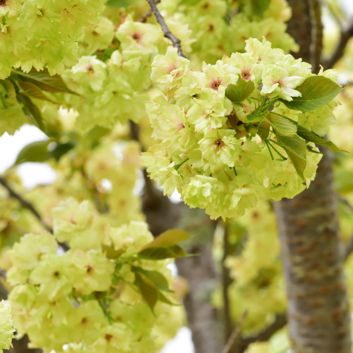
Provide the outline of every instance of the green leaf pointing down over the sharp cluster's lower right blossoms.
[[293,163],[294,167],[297,170],[298,175],[303,179],[304,178],[304,170],[307,164],[307,145],[303,139],[299,136],[277,136],[277,142],[281,145],[285,152],[287,153],[290,161]]

